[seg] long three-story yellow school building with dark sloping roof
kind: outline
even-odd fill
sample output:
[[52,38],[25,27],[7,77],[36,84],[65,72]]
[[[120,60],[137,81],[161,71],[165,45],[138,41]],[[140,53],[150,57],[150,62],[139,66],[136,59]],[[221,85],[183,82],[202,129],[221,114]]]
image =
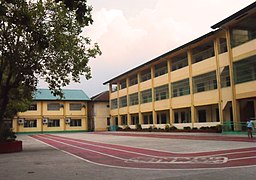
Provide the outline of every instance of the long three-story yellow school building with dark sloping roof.
[[177,128],[256,117],[256,2],[213,30],[103,83],[112,125]]

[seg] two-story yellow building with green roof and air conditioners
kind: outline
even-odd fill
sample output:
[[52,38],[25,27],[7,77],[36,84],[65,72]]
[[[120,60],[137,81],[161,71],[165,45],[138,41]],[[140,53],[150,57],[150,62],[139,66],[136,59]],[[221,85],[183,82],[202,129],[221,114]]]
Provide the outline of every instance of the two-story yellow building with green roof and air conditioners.
[[28,111],[13,119],[14,132],[67,132],[88,130],[88,96],[82,90],[63,89],[60,100],[48,89],[38,89]]

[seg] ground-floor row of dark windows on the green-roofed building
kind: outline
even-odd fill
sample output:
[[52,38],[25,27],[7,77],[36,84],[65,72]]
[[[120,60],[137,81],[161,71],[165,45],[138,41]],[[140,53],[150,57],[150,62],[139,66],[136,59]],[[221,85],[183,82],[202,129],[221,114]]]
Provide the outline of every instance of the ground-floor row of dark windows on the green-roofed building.
[[[70,127],[81,127],[82,120],[81,119],[71,119]],[[24,128],[35,128],[37,127],[37,120],[30,119],[24,121]],[[47,123],[47,127],[60,127],[60,119],[49,119]]]

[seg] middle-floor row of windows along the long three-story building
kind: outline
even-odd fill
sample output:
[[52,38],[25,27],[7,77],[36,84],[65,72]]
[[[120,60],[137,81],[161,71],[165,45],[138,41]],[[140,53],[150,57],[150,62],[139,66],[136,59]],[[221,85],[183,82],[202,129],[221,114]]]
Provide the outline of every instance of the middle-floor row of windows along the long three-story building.
[[[256,80],[256,56],[245,58],[241,61],[234,63],[234,82],[235,84],[244,83],[248,81]],[[192,78],[193,93],[199,93],[209,90],[217,89],[216,71],[212,71],[206,74],[195,76]],[[221,88],[230,86],[230,70],[229,66],[220,68],[220,85]],[[189,78],[181,81],[171,83],[171,97],[179,97],[190,94]],[[139,101],[140,97],[140,101]],[[141,91],[140,93],[130,94],[128,96],[129,105],[137,105],[154,101],[164,100],[169,98],[169,86],[168,84],[154,88],[154,96],[152,95],[152,89]],[[126,107],[127,96],[119,98],[119,106]],[[118,100],[111,100],[111,108],[116,109],[118,107]]]

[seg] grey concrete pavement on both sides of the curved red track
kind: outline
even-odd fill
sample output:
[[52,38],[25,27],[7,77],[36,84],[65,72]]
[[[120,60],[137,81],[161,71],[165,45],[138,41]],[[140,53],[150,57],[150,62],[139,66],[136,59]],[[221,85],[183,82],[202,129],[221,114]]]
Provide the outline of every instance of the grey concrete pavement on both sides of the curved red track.
[[[157,134],[157,133],[156,133]],[[180,134],[180,133],[179,133]],[[55,134],[61,137],[166,152],[206,152],[256,147],[255,142],[115,136],[95,133]],[[187,135],[187,134],[186,134]],[[189,134],[205,136],[206,134]],[[225,136],[212,134],[213,136]],[[229,135],[230,136],[230,135]],[[226,137],[226,136],[225,136]],[[0,154],[0,179],[255,179],[255,166],[204,170],[145,170],[106,167],[54,149],[28,135],[18,135],[23,152]]]

